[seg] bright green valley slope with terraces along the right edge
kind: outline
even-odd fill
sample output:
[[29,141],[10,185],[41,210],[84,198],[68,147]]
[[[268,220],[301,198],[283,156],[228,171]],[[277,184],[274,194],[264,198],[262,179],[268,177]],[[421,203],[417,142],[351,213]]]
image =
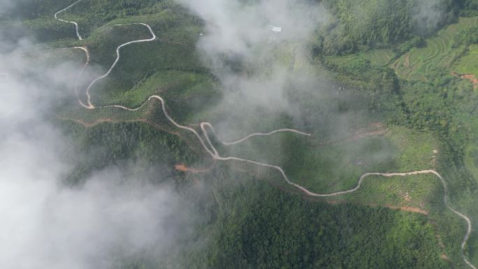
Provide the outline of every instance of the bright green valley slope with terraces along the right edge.
[[[382,92],[384,99],[380,99],[382,109],[379,108],[396,111],[399,117],[392,119],[396,124],[434,133],[440,140],[437,167],[449,182],[452,203],[458,206],[458,210],[463,209],[474,223],[478,214],[477,182],[476,177],[473,179],[472,176],[474,166],[470,156],[471,149],[478,142],[475,111],[478,100],[472,85],[474,79],[470,75],[464,75],[472,74],[474,66],[473,44],[476,43],[477,32],[473,29],[476,29],[476,24],[477,17],[461,17],[457,23],[426,39],[423,45],[417,43],[418,48],[412,48],[408,52],[397,50],[399,57],[391,63],[391,67],[396,72],[396,77],[403,80],[399,80],[396,94]],[[402,45],[398,47],[400,46]],[[404,44],[403,48],[407,48],[407,45]],[[401,51],[403,54],[399,55]],[[388,68],[374,67],[380,66],[380,63],[364,59],[361,56],[363,53],[322,57],[321,60],[324,66],[337,72],[338,78],[351,87],[362,88],[364,83],[370,81],[370,69],[382,74],[389,72]],[[386,101],[385,96],[391,101]],[[395,98],[399,101],[395,101]],[[478,259],[477,245],[477,236],[472,233],[467,245],[471,261]]]

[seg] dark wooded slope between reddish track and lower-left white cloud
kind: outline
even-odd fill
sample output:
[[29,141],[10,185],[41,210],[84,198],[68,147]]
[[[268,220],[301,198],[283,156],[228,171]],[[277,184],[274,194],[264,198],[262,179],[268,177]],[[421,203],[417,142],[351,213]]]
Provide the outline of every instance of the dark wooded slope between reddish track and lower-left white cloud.
[[134,163],[135,170],[150,180],[158,180],[151,168],[164,177],[176,175],[177,163],[194,163],[198,156],[178,136],[164,133],[146,123],[99,124],[90,128],[62,123],[62,129],[75,145],[75,168],[68,184],[81,183],[95,170]]

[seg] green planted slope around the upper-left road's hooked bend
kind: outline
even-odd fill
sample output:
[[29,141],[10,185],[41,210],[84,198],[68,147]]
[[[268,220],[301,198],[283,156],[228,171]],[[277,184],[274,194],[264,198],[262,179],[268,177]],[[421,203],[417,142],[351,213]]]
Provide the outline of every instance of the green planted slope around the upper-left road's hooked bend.
[[[92,63],[104,66],[104,71],[96,72],[101,74],[113,64],[118,45],[128,41],[150,38],[150,33],[143,25],[118,27],[112,26],[113,24],[146,22],[151,25],[154,33],[158,36],[155,41],[150,43],[133,44],[121,49],[121,58],[113,72],[91,89],[94,92],[92,101],[97,106],[112,103],[138,106],[145,101],[145,97],[159,92],[161,85],[156,85],[156,88],[148,87],[146,92],[136,91],[133,88],[143,82],[153,85],[154,83],[152,84],[151,81],[154,80],[154,77],[167,75],[171,71],[189,73],[189,75],[175,78],[175,84],[179,83],[179,85],[188,83],[188,80],[210,80],[208,70],[201,67],[194,50],[194,43],[199,32],[198,27],[186,22],[177,22],[174,27],[169,28],[162,20],[163,14],[115,20],[110,22],[109,26],[96,29],[84,41],[91,52]],[[151,79],[150,76],[152,76]],[[186,81],[180,81],[182,78]],[[135,96],[136,94],[139,96]]]

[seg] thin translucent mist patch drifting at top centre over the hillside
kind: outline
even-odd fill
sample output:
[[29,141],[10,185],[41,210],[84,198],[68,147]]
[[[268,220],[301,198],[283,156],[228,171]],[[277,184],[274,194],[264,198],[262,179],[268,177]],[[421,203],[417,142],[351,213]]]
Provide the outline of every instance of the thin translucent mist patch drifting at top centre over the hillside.
[[300,0],[178,2],[205,22],[197,49],[222,88],[222,103],[211,108],[222,118],[207,119],[219,133],[238,136],[257,131],[263,119],[300,117],[292,99],[321,91],[310,59],[314,32],[328,20],[321,5]]

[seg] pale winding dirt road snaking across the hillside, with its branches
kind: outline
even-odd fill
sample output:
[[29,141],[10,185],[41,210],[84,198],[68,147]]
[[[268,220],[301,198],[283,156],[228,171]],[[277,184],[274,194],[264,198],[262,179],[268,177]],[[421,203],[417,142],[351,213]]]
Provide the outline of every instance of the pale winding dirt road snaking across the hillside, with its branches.
[[[55,13],[55,19],[57,20],[60,20],[61,22],[68,22],[68,23],[71,23],[71,24],[74,24],[75,25],[75,29],[76,29],[76,34],[78,36],[78,39],[82,40],[80,34],[78,33],[78,24],[76,22],[70,22],[70,21],[67,21],[67,20],[61,20],[57,17],[57,15],[61,12],[64,12],[65,10],[68,10],[68,8],[71,8],[72,6],[74,6],[76,3],[80,2],[81,0],[78,0],[78,1],[75,1],[74,3],[72,3],[70,6],[67,6],[66,8],[62,9],[62,10],[59,10],[57,13]],[[279,133],[279,132],[292,132],[292,133],[297,133],[298,135],[303,135],[303,136],[311,136],[310,133],[304,133],[302,131],[297,131],[295,129],[277,129],[275,131],[270,131],[268,133],[252,133],[250,134],[249,136],[246,136],[245,138],[242,138],[242,139],[239,139],[239,140],[236,140],[236,141],[232,141],[232,142],[226,142],[224,140],[222,140],[221,138],[219,138],[219,136],[217,136],[217,133],[215,132],[215,129],[214,127],[212,126],[212,124],[210,124],[209,122],[201,122],[201,131],[202,131],[202,135],[203,137],[205,138],[205,140],[203,139],[203,137],[195,130],[195,129],[192,129],[191,127],[189,126],[184,126],[184,125],[181,125],[181,124],[178,124],[178,122],[175,122],[175,120],[168,114],[168,112],[166,111],[166,105],[165,105],[165,102],[164,102],[164,99],[161,98],[161,96],[158,96],[158,95],[152,95],[150,96],[143,104],[141,104],[138,108],[127,108],[125,106],[119,106],[119,105],[112,105],[112,106],[101,106],[101,107],[95,107],[92,103],[91,103],[91,98],[90,98],[90,95],[89,95],[89,89],[91,89],[93,87],[93,85],[98,82],[99,80],[103,79],[103,78],[106,78],[108,75],[110,75],[111,71],[113,71],[113,68],[115,68],[117,62],[119,61],[119,58],[120,58],[120,53],[119,53],[119,50],[121,48],[123,48],[124,46],[126,45],[131,45],[133,43],[141,43],[141,42],[150,42],[150,41],[154,41],[154,39],[157,38],[157,36],[154,34],[154,31],[152,31],[151,27],[148,25],[148,24],[145,24],[145,23],[133,23],[133,24],[141,24],[141,25],[144,25],[145,27],[147,27],[147,29],[150,31],[150,34],[152,35],[152,38],[148,38],[148,39],[141,39],[141,40],[137,40],[137,41],[129,41],[127,43],[124,43],[122,45],[119,45],[116,49],[116,59],[113,63],[112,66],[110,66],[109,70],[107,73],[105,73],[104,75],[101,75],[100,77],[98,78],[95,78],[94,80],[92,80],[92,82],[89,83],[89,86],[87,87],[87,90],[86,90],[86,94],[87,94],[87,105],[85,105],[84,103],[82,103],[82,101],[80,101],[79,97],[78,97],[78,101],[79,103],[81,104],[81,106],[83,106],[84,108],[88,108],[88,109],[99,109],[99,108],[119,108],[119,109],[122,109],[122,110],[128,110],[128,111],[136,111],[136,110],[139,110],[140,108],[143,108],[143,106],[145,106],[146,103],[152,101],[153,99],[156,99],[158,100],[160,103],[161,103],[161,108],[163,110],[163,113],[164,113],[164,116],[169,120],[169,122],[171,122],[174,126],[176,126],[178,129],[182,129],[184,131],[189,131],[191,133],[194,134],[194,136],[196,136],[196,138],[198,138],[199,142],[201,143],[201,145],[203,146],[203,148],[205,149],[206,152],[208,152],[208,154],[210,154],[210,156],[212,157],[212,159],[214,160],[218,160],[218,161],[240,161],[240,162],[245,162],[245,163],[252,163],[252,164],[255,164],[257,166],[263,166],[263,167],[267,167],[267,168],[273,168],[277,171],[280,172],[280,174],[282,175],[282,177],[284,178],[284,180],[290,184],[291,186],[294,186],[296,187],[297,189],[300,189],[300,191],[303,191],[303,193],[307,194],[307,196],[314,196],[314,197],[330,197],[330,196],[339,196],[339,195],[344,195],[344,194],[350,194],[354,191],[357,191],[360,189],[361,187],[361,184],[363,183],[363,180],[365,180],[366,177],[369,177],[371,175],[378,175],[378,176],[383,176],[383,177],[396,177],[396,176],[410,176],[410,175],[420,175],[420,174],[433,174],[433,175],[436,175],[438,178],[440,178],[441,182],[442,182],[442,185],[443,185],[443,188],[444,188],[444,198],[443,198],[443,201],[444,201],[444,204],[447,206],[447,208],[449,210],[451,210],[451,212],[454,212],[456,215],[458,215],[459,217],[461,217],[462,219],[464,219],[467,224],[468,224],[468,228],[467,228],[467,232],[465,233],[465,236],[463,238],[463,241],[461,243],[461,256],[463,258],[463,261],[468,265],[470,266],[470,268],[472,269],[477,269],[475,266],[472,265],[472,263],[470,263],[467,259],[467,257],[465,256],[464,254],[464,247],[466,245],[466,243],[468,242],[468,239],[470,238],[470,233],[472,231],[472,224],[471,224],[471,221],[470,219],[463,215],[461,212],[458,212],[456,210],[454,210],[453,208],[450,207],[449,203],[448,203],[448,187],[447,187],[447,183],[445,182],[445,180],[443,179],[443,177],[437,173],[435,170],[417,170],[417,171],[412,171],[412,172],[408,172],[408,173],[365,173],[363,175],[361,175],[360,179],[359,179],[359,182],[357,184],[356,187],[354,187],[353,189],[349,189],[349,190],[346,190],[346,191],[337,191],[337,192],[334,192],[334,193],[330,193],[330,194],[317,194],[317,193],[314,193],[312,191],[309,191],[308,189],[306,189],[305,187],[303,186],[300,186],[299,184],[296,184],[294,182],[291,182],[291,180],[289,180],[289,177],[287,177],[286,173],[284,173],[284,170],[280,167],[280,166],[275,166],[275,165],[272,165],[272,164],[269,164],[269,163],[261,163],[259,161],[254,161],[254,160],[249,160],[249,159],[242,159],[242,158],[238,158],[238,157],[221,157],[219,155],[219,153],[217,152],[217,149],[215,148],[214,145],[212,145],[211,143],[211,140],[210,140],[210,137],[209,137],[209,133],[207,131],[207,128],[210,129],[210,131],[212,132],[212,134],[215,136],[215,138],[217,140],[219,140],[223,145],[236,145],[236,144],[239,144],[239,143],[242,143],[244,142],[245,140],[249,139],[249,138],[252,138],[254,136],[270,136],[270,135],[273,135],[274,133]],[[132,25],[132,24],[115,24],[115,26],[120,26],[120,25]],[[86,64],[85,66],[83,66],[82,68],[82,71],[80,71],[79,75],[78,75],[78,79],[80,77],[80,75],[83,73],[83,71],[85,70],[86,66],[88,65],[89,63],[89,52],[87,50],[87,48],[85,47],[75,47],[77,49],[80,49],[80,50],[83,50],[86,55],[87,55],[87,61],[86,61]],[[77,81],[75,82],[76,85],[78,85],[78,79]],[[75,92],[76,92],[76,89],[75,89]],[[77,93],[78,95],[78,93]]]

